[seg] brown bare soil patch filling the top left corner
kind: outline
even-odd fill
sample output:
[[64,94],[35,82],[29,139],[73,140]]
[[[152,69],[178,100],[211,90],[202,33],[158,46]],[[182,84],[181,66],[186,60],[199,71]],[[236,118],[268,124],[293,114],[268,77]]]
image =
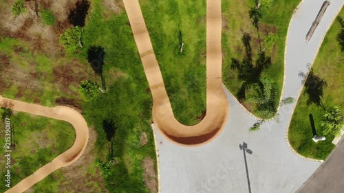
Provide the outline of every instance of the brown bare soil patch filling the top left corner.
[[[4,3],[0,12],[0,35],[12,38],[19,38],[28,41],[34,45],[34,49],[39,49],[42,52],[54,53],[56,50],[61,50],[62,46],[58,43],[58,38],[67,27],[72,25],[67,20],[69,10],[75,6],[76,0],[67,1],[37,1],[39,4],[39,18],[34,19],[34,16],[28,10],[25,14],[13,17],[11,7],[14,0]],[[34,1],[25,1],[25,5],[32,10],[34,8]],[[45,25],[40,18],[41,10],[49,9],[54,13],[55,24],[52,26]]]

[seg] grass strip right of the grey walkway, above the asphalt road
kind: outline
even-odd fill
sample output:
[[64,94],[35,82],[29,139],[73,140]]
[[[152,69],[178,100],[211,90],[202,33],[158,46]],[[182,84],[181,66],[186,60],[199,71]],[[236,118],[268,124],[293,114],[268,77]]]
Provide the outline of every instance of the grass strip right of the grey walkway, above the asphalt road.
[[[344,17],[344,9],[339,14]],[[327,88],[324,90],[322,98],[325,109],[339,105],[344,107],[344,54],[336,41],[336,36],[341,30],[338,21],[334,21],[332,27],[327,32],[319,54],[313,65],[314,73],[327,81]],[[334,135],[325,136],[325,141],[314,143],[312,141],[312,129],[310,126],[309,114],[313,115],[316,133],[322,134],[319,124],[322,120],[324,110],[319,106],[307,106],[307,96],[301,95],[297,107],[292,115],[288,138],[292,148],[305,157],[314,159],[325,159],[334,148],[332,140]]]

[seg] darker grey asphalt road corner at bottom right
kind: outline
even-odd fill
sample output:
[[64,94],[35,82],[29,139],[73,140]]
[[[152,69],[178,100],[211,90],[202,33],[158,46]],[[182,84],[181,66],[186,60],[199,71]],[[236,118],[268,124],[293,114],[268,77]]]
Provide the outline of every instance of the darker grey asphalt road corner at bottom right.
[[344,138],[297,193],[344,192]]

